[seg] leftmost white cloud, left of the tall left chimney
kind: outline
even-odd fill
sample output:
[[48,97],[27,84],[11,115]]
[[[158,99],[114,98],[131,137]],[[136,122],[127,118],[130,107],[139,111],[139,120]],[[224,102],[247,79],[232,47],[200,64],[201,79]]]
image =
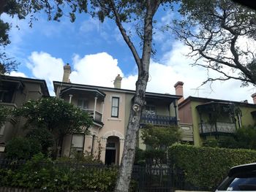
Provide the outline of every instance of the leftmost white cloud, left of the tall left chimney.
[[61,81],[63,77],[64,62],[61,58],[54,58],[52,55],[44,52],[33,52],[29,56],[29,62],[26,64],[31,69],[34,77],[46,80],[50,85],[49,91],[53,93],[53,80]]

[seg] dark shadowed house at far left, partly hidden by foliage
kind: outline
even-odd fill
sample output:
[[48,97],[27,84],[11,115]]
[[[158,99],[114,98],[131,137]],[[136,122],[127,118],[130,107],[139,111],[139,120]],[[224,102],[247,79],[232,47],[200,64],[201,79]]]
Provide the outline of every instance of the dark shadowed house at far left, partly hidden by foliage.
[[[49,96],[45,80],[0,75],[0,105],[15,109],[29,99]],[[16,135],[23,135],[23,118],[8,118],[0,128],[0,156],[6,143]]]

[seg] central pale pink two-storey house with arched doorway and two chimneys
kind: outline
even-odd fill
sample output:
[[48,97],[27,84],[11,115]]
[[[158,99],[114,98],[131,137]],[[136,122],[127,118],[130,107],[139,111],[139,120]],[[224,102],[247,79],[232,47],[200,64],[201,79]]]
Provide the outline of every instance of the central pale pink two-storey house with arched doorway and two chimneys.
[[[71,69],[67,64],[64,66],[62,82],[53,82],[56,96],[89,112],[94,124],[90,128],[90,135],[77,133],[65,137],[62,155],[72,155],[74,150],[91,155],[97,155],[100,151],[100,159],[105,164],[120,164],[135,91],[121,88],[122,78],[119,74],[114,80],[114,88],[107,88],[69,82],[70,73]],[[146,107],[140,125],[178,125],[177,101],[180,97],[146,93]],[[186,138],[187,136],[184,137],[185,140]],[[138,146],[145,147],[140,139]]]

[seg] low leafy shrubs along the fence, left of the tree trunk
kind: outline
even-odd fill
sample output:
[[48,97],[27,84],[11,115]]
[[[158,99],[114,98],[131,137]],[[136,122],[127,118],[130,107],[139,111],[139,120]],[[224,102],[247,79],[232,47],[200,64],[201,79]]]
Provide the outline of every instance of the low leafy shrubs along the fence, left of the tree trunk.
[[42,191],[113,191],[117,172],[116,167],[59,164],[39,153],[20,169],[0,169],[0,185]]

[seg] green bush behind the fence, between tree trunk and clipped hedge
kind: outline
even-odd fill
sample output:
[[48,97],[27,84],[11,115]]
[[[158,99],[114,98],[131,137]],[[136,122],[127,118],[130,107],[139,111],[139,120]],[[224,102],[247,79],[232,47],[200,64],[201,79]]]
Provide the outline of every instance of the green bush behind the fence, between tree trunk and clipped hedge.
[[167,163],[167,147],[181,139],[178,126],[152,126],[142,128],[141,139],[146,150],[136,150],[135,163],[162,166]]

